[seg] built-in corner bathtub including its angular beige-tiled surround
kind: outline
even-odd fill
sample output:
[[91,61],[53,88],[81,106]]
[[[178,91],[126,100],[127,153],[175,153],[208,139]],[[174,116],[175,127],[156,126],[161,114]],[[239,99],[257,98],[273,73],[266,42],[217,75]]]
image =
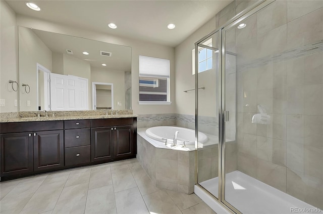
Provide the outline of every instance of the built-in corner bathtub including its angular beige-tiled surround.
[[[151,178],[152,182],[156,187],[187,194],[193,193],[196,169],[195,144],[193,143],[190,145],[186,143],[186,146],[183,147],[182,141],[187,140],[188,133],[184,135],[183,139],[180,135],[177,136],[178,140],[181,139],[181,142],[178,143],[178,145],[172,146],[172,143],[176,131],[179,131],[179,134],[184,134],[184,131],[190,131],[192,132],[191,135],[193,136],[193,139],[195,139],[195,131],[181,127],[165,127],[170,135],[159,136],[158,134],[160,139],[164,138],[170,140],[167,145],[165,145],[165,140],[160,140],[159,137],[157,139],[148,137],[146,133],[149,133],[150,131],[146,131],[149,129],[151,131],[151,128],[139,128],[137,131],[137,159]],[[161,128],[160,130],[164,129]],[[199,137],[202,136],[202,134],[203,133],[199,133]],[[203,135],[205,135],[204,139],[206,139],[206,141],[198,143],[199,149],[210,147],[218,148],[217,136],[208,134]]]

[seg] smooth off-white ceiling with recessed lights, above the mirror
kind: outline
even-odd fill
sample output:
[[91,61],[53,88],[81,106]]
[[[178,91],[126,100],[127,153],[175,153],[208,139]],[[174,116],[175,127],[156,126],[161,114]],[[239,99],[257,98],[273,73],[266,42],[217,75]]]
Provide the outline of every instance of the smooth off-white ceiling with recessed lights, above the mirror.
[[[17,14],[176,47],[232,1],[31,1],[39,12],[27,0],[6,2]],[[118,28],[107,27],[110,22]],[[169,23],[176,28],[169,30]]]

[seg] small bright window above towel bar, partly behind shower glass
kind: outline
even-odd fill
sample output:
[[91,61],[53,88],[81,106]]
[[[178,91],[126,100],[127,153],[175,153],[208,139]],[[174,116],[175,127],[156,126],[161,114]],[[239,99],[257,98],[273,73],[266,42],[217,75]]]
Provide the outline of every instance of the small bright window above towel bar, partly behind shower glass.
[[[203,45],[212,47],[212,39],[207,40]],[[199,47],[198,49],[198,72],[212,69],[212,50]],[[195,49],[192,50],[192,74],[195,74]]]

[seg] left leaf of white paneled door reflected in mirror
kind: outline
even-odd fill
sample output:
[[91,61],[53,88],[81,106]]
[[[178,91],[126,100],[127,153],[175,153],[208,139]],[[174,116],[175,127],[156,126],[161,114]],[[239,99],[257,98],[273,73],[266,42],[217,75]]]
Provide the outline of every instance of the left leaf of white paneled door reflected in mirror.
[[50,103],[51,111],[65,111],[66,76],[50,73]]

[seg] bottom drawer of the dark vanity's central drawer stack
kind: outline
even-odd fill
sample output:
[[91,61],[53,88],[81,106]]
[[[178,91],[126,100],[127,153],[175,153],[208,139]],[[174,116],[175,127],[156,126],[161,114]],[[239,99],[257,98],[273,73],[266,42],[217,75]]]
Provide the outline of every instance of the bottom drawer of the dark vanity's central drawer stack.
[[89,163],[91,161],[91,146],[78,146],[65,149],[65,166]]

